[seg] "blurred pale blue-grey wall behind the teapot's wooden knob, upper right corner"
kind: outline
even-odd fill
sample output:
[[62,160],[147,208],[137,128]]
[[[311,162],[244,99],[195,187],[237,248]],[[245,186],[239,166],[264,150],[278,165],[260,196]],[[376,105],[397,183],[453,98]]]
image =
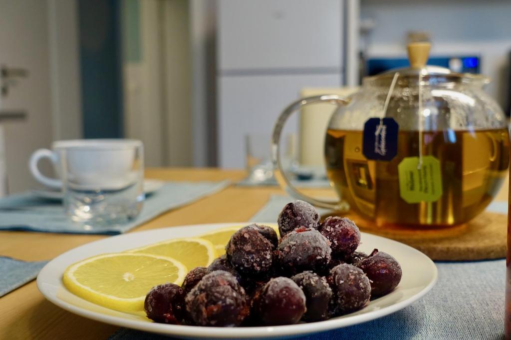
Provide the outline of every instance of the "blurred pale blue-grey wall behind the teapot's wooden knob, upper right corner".
[[499,0],[362,0],[360,18],[371,29],[360,46],[366,58],[404,57],[406,32],[426,32],[431,56],[479,57],[479,72],[492,79],[486,91],[509,115],[510,13],[511,2]]

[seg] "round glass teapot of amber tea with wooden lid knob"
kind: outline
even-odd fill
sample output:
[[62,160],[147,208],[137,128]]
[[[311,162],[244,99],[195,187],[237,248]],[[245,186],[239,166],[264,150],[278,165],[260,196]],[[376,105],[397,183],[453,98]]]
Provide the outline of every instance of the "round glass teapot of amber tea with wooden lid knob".
[[[426,66],[428,43],[408,45],[410,68],[365,77],[343,98],[322,95],[291,103],[272,135],[278,182],[296,198],[377,226],[450,226],[490,204],[509,165],[509,132],[481,75]],[[305,105],[337,105],[326,132],[327,175],[339,197],[323,201],[286,177],[278,143],[287,118]]]

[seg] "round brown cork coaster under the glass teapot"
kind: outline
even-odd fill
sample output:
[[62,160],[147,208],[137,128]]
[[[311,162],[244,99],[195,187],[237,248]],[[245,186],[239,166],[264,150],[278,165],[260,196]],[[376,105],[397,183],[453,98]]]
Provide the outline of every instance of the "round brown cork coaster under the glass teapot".
[[483,212],[466,224],[441,229],[379,228],[352,212],[346,216],[355,221],[361,231],[407,244],[433,260],[482,260],[506,256],[507,216],[503,214]]

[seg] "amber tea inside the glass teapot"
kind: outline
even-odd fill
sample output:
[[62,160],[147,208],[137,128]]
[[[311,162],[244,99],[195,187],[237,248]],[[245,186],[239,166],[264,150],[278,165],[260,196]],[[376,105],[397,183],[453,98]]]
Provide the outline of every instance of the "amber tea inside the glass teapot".
[[381,162],[362,154],[361,131],[328,130],[328,177],[352,210],[377,224],[450,225],[473,218],[492,201],[508,167],[507,128],[423,133],[425,152],[442,165],[443,195],[435,202],[409,204],[400,196],[397,168],[418,153],[418,135],[399,132],[398,156]]

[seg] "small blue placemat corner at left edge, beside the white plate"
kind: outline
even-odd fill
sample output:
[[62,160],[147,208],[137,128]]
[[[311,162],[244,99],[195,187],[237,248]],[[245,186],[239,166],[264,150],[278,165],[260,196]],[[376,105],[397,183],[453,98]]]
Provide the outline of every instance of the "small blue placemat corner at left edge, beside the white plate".
[[36,278],[48,261],[27,262],[0,256],[0,297]]

